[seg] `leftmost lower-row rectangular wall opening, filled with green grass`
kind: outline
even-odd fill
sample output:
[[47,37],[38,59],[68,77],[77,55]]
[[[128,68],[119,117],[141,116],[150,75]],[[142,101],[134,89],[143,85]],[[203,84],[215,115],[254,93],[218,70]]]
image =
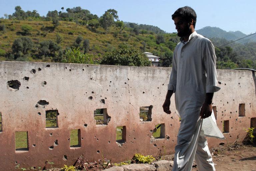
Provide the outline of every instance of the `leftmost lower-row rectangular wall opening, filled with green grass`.
[[16,151],[28,151],[28,132],[15,132],[15,149]]

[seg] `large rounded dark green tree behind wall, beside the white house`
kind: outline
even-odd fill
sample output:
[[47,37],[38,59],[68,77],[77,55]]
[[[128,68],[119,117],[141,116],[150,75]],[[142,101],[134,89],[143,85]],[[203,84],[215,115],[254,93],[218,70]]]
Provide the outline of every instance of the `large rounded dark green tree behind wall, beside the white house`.
[[123,46],[111,53],[107,53],[101,61],[103,65],[124,65],[124,66],[150,66],[151,62],[135,48]]

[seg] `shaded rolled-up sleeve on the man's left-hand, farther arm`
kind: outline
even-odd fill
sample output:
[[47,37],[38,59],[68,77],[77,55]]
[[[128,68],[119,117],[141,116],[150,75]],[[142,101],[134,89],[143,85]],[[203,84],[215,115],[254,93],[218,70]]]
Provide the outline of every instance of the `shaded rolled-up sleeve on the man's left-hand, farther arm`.
[[168,90],[173,90],[173,92],[175,92],[176,83],[177,83],[177,60],[176,60],[176,52],[174,51],[173,58],[172,58],[172,72],[170,75]]

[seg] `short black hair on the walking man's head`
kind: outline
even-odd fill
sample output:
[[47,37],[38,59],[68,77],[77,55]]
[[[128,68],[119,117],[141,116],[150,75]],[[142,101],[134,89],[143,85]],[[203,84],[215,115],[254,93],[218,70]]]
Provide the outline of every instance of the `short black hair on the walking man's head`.
[[190,22],[193,19],[193,26],[196,27],[196,12],[191,7],[185,6],[177,9],[172,15],[172,19],[175,17],[181,17],[185,21]]

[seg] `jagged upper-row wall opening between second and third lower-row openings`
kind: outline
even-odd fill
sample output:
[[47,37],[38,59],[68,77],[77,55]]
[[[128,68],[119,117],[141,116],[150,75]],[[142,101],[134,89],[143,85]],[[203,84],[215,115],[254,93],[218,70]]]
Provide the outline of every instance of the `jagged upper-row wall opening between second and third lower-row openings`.
[[96,125],[107,125],[111,117],[107,113],[107,108],[101,108],[94,110],[94,119],[96,120]]

